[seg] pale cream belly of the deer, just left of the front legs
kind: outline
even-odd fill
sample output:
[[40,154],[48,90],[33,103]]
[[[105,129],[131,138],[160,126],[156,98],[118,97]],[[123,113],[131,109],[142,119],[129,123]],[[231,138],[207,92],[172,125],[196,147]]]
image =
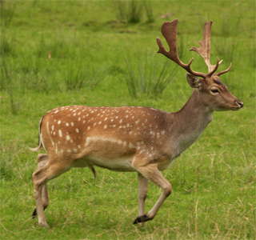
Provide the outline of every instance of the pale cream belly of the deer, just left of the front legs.
[[89,156],[87,157],[87,161],[90,162],[91,165],[100,166],[109,170],[134,171],[134,168],[131,166],[131,156],[122,158],[102,158],[98,156]]

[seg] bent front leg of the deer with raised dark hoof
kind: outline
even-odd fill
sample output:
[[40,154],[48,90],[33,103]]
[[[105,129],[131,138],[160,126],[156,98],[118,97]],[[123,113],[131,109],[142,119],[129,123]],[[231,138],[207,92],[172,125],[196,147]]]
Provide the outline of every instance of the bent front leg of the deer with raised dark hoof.
[[151,182],[154,182],[155,185],[161,187],[162,189],[162,194],[159,196],[157,202],[155,202],[151,210],[147,214],[138,216],[138,218],[134,220],[134,224],[137,224],[139,222],[146,222],[154,218],[154,216],[157,214],[158,210],[162,206],[162,203],[170,195],[172,188],[170,182],[168,182],[166,178],[162,176],[162,173],[158,170],[157,164],[150,163],[142,166],[141,161],[135,160],[133,162],[133,166],[136,170],[138,170],[140,174],[142,174],[144,178],[147,178]]

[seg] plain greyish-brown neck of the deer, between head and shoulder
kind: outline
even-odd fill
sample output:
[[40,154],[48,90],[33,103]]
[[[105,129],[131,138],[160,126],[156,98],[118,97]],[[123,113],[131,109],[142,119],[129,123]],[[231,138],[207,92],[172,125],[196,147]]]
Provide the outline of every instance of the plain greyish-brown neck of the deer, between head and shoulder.
[[212,110],[202,103],[198,90],[194,90],[190,99],[181,110],[171,113],[169,147],[173,157],[186,150],[198,138],[212,118]]

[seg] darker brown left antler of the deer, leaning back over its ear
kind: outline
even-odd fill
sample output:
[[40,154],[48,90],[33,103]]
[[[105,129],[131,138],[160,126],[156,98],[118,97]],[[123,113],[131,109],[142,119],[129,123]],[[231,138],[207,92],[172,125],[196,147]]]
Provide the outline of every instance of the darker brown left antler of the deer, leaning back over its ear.
[[176,62],[179,66],[182,66],[187,72],[190,74],[193,74],[194,76],[205,78],[206,74],[196,72],[194,70],[191,70],[190,65],[193,62],[194,58],[190,60],[188,64],[183,63],[178,58],[178,50],[177,50],[177,25],[178,25],[178,19],[175,19],[172,22],[165,22],[162,24],[162,35],[164,38],[166,38],[166,42],[170,48],[169,52],[166,51],[164,46],[162,46],[162,42],[159,38],[157,38],[157,43],[159,46],[158,53],[165,55],[167,58],[170,58],[170,60]]

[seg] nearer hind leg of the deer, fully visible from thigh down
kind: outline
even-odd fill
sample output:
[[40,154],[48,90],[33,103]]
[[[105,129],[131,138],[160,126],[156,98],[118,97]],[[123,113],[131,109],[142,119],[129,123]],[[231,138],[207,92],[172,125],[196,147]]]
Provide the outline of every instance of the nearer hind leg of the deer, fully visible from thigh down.
[[44,204],[48,204],[48,197],[46,196],[46,182],[70,169],[66,164],[60,164],[59,161],[50,161],[49,158],[46,165],[38,168],[33,174],[34,183],[34,198],[36,201],[36,213],[38,214],[38,224],[40,226],[48,227],[46,222],[46,215],[44,213]]

